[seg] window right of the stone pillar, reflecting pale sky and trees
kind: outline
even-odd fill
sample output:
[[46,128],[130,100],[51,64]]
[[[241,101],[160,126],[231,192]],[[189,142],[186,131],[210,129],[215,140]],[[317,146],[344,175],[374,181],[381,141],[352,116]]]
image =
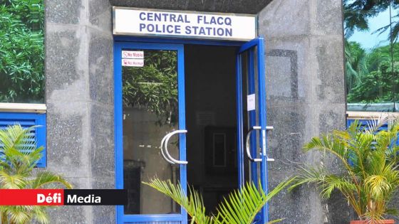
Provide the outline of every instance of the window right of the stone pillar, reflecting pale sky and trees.
[[398,112],[399,1],[343,0],[348,111]]

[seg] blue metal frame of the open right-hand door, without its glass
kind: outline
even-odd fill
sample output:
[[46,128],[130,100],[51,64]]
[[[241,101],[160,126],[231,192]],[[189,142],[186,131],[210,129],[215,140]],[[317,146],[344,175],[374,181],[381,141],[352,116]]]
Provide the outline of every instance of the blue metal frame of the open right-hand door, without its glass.
[[[249,116],[249,127],[259,126],[259,142],[257,144],[256,135],[252,134],[250,137],[250,146],[252,158],[257,158],[258,150],[257,145],[261,146],[260,153],[260,174],[257,174],[257,161],[249,161],[251,165],[250,174],[251,180],[257,184],[259,181],[261,183],[261,188],[268,192],[267,186],[267,152],[266,152],[266,83],[265,83],[265,58],[264,58],[264,38],[255,38],[252,41],[244,43],[237,53],[237,139],[238,139],[238,161],[239,161],[239,185],[244,186],[245,174],[244,174],[244,159],[247,156],[244,155],[244,117],[242,114],[243,108],[242,98],[243,98],[243,73],[242,73],[242,63],[243,63],[243,53],[248,53],[247,57],[247,81],[248,81],[248,95],[255,94],[255,99],[258,103],[258,117],[256,110],[248,111]],[[257,60],[255,61],[254,55],[257,55]],[[255,68],[257,65],[257,73],[255,74]],[[257,77],[255,77],[257,75]],[[255,80],[258,80],[258,85],[255,85]],[[257,87],[257,90],[256,90]],[[247,99],[245,99],[247,100]],[[257,123],[258,119],[258,123]],[[260,178],[260,180],[259,180]],[[262,208],[261,212],[257,217],[256,223],[267,223],[269,222],[268,214],[268,204]]]

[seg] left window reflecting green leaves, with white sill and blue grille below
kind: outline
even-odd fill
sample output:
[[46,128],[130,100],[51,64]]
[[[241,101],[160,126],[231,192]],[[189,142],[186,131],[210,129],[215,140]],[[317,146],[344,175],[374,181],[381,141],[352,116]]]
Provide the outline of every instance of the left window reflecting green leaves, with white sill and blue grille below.
[[38,125],[32,138],[46,147],[43,28],[43,0],[0,1],[0,129]]

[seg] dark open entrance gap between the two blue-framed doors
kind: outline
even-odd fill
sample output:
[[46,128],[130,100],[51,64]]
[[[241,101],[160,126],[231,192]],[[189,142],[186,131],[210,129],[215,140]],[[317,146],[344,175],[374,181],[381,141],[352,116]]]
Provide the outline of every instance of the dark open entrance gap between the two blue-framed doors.
[[238,187],[236,52],[185,45],[187,183],[209,213]]

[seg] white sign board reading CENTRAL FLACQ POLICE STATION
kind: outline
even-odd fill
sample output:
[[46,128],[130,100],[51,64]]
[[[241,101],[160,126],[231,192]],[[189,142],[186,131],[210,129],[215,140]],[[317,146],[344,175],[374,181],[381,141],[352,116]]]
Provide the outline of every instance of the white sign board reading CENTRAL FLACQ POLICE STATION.
[[114,6],[113,34],[249,41],[257,37],[257,16]]

